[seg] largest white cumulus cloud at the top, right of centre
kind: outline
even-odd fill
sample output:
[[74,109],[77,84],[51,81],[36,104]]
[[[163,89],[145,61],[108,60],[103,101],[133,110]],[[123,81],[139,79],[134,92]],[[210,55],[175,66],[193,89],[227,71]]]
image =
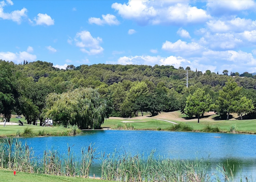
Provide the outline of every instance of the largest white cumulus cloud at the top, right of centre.
[[111,7],[124,19],[140,25],[202,23],[210,18],[205,10],[190,6],[188,1],[129,0],[127,4],[114,3]]

